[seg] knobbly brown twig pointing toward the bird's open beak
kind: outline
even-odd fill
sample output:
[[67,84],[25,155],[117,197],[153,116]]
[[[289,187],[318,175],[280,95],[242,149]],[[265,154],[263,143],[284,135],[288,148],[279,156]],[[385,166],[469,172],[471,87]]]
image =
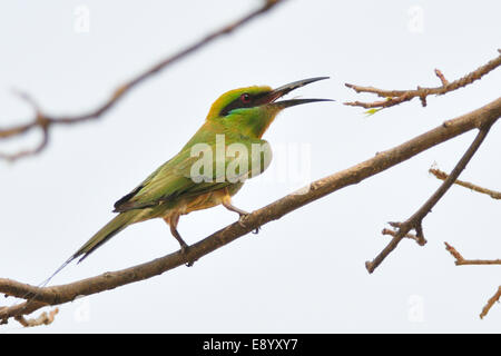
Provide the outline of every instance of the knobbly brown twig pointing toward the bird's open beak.
[[[500,53],[501,51],[498,50]],[[443,73],[435,69],[435,75],[439,77],[439,79],[442,82],[441,87],[435,88],[421,88],[418,87],[418,89],[414,90],[383,90],[377,89],[374,87],[362,87],[362,86],[355,86],[351,83],[345,83],[346,87],[355,90],[356,92],[370,92],[374,93],[381,98],[384,98],[384,100],[379,100],[374,102],[362,102],[362,101],[348,101],[344,102],[344,105],[352,106],[352,107],[362,107],[365,109],[371,108],[389,108],[393,107],[395,105],[399,105],[404,101],[410,101],[414,98],[420,98],[421,103],[423,107],[426,106],[426,97],[430,95],[441,96],[446,92],[456,90],[459,88],[463,88],[470,83],[472,83],[475,80],[479,80],[493,69],[498,68],[501,65],[501,55],[499,55],[497,58],[489,61],[487,65],[478,68],[477,70],[468,73],[466,76],[454,80],[453,82],[449,82]]]

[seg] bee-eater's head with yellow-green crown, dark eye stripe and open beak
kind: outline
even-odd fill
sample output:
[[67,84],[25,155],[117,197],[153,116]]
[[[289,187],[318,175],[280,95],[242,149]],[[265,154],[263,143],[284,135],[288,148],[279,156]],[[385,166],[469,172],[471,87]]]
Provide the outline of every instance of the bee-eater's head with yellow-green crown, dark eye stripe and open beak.
[[276,89],[267,86],[254,86],[227,91],[213,103],[207,115],[207,121],[218,121],[225,127],[239,130],[244,135],[261,138],[276,115],[283,109],[307,102],[332,101],[330,99],[288,99],[277,101],[277,99],[294,89],[327,78],[317,77],[298,80]]

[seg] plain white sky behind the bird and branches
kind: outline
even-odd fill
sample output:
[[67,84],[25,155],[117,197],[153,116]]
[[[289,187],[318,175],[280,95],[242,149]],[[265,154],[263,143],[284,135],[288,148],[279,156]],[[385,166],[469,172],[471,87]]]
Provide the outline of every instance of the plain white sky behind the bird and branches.
[[[11,88],[28,91],[47,112],[80,113],[261,2],[135,3],[2,1],[0,127],[32,116]],[[73,30],[77,6],[90,10],[88,33]],[[423,18],[410,28],[413,7]],[[501,3],[493,0],[286,2],[143,83],[101,120],[56,128],[40,156],[1,161],[1,277],[38,284],[49,276],[114,216],[118,198],[178,151],[226,90],[332,77],[294,96],[336,102],[291,108],[265,135],[272,148],[310,145],[312,180],[492,101],[500,92],[499,69],[465,89],[430,97],[426,108],[413,100],[366,118],[362,109],[342,105],[375,98],[357,97],[344,82],[438,86],[434,68],[454,80],[485,63],[500,47],[499,13]],[[424,220],[424,248],[404,240],[373,275],[364,267],[389,241],[381,235],[385,222],[406,219],[440,185],[430,166],[450,171],[474,135],[265,225],[259,235],[242,237],[191,268],[63,305],[49,327],[24,330],[10,322],[1,333],[500,332],[499,305],[479,319],[501,283],[499,267],[455,267],[443,245],[449,241],[466,258],[501,257],[501,205],[487,196],[453,187]],[[500,135],[497,125],[463,179],[501,189]],[[276,165],[277,157],[265,175]],[[234,204],[254,210],[301,186],[250,180]],[[235,219],[217,207],[183,217],[179,231],[190,244]],[[68,266],[53,284],[177,249],[164,221],[135,225],[84,264]]]

